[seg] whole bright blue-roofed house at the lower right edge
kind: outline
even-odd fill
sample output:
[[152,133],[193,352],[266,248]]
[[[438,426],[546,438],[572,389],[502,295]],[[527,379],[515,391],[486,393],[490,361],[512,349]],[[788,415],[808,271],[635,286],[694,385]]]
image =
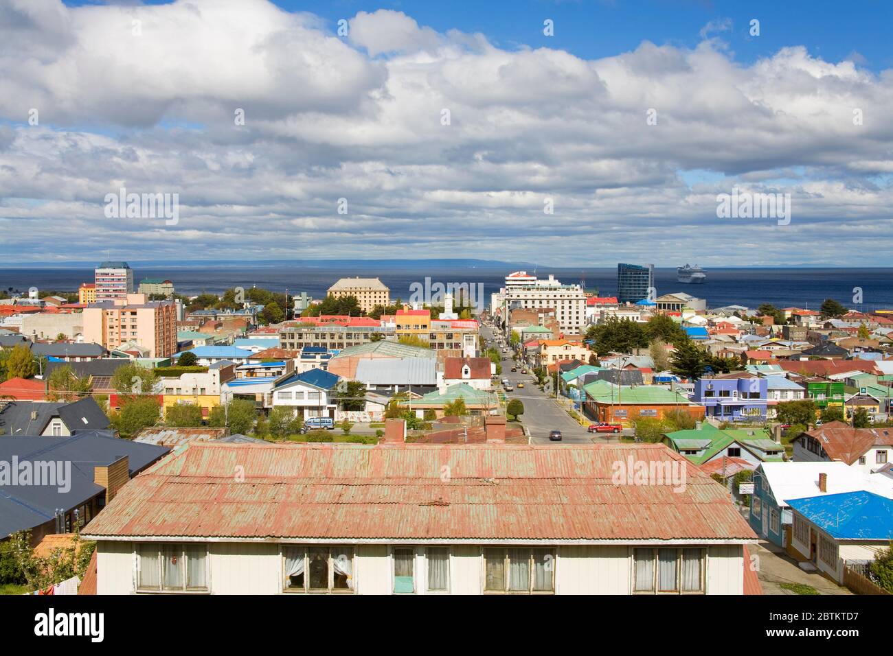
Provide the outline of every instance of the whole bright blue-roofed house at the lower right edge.
[[789,500],[792,546],[842,585],[847,568],[864,574],[893,539],[893,501],[861,490]]

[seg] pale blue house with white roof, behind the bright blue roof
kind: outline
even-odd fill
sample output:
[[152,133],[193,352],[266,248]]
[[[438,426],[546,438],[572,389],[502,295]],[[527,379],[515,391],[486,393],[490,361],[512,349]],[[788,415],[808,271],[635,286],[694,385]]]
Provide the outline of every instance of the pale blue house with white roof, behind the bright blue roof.
[[893,480],[868,474],[846,462],[763,462],[754,471],[750,527],[758,536],[788,547],[791,510],[789,499],[868,490],[893,497]]

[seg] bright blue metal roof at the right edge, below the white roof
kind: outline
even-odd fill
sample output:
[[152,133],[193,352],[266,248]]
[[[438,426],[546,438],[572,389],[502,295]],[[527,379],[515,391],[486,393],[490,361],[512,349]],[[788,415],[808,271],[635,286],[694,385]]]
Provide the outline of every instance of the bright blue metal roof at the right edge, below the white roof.
[[795,511],[840,540],[893,538],[893,501],[873,492],[844,492],[788,499]]

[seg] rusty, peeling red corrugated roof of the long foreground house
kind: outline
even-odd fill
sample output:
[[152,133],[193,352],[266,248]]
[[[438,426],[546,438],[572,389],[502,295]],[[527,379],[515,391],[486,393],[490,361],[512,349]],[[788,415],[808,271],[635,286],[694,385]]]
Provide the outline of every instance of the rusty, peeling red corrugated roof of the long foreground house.
[[[686,484],[614,485],[621,462],[676,463]],[[726,490],[663,444],[193,443],[131,480],[84,536],[756,538]]]

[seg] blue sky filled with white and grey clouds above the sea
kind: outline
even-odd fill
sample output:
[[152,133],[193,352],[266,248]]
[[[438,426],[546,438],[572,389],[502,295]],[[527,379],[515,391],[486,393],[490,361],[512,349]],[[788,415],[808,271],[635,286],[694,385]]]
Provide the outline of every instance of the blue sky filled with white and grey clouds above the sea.
[[0,0],[0,255],[893,266],[893,16],[779,4]]

